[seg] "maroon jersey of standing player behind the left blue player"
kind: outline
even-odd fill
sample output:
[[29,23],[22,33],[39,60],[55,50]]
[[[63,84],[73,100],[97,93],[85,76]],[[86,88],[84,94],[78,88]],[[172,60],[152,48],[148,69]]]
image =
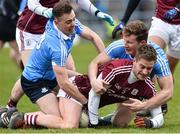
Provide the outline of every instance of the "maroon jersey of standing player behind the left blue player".
[[[40,3],[44,7],[52,8],[58,1],[59,0],[40,0]],[[42,34],[45,30],[46,23],[47,18],[32,12],[26,6],[18,20],[17,27],[28,33]]]

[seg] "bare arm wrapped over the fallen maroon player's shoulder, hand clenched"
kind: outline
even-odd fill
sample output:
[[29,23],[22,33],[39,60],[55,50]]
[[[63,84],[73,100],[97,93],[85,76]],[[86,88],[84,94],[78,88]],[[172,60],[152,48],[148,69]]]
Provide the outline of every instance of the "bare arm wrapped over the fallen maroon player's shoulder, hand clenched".
[[111,58],[109,58],[106,52],[104,51],[104,52],[101,52],[97,57],[95,57],[89,64],[88,75],[89,75],[90,83],[93,90],[97,94],[103,94],[106,91],[106,88],[103,85],[103,84],[106,84],[106,82],[103,80],[97,79],[98,66],[110,60]]

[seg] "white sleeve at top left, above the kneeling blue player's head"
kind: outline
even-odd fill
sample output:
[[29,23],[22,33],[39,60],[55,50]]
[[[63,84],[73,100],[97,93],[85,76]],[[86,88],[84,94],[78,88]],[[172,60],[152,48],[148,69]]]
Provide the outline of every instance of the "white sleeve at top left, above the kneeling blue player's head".
[[43,15],[43,12],[48,8],[42,6],[39,1],[40,0],[28,0],[27,6],[32,12],[38,15]]

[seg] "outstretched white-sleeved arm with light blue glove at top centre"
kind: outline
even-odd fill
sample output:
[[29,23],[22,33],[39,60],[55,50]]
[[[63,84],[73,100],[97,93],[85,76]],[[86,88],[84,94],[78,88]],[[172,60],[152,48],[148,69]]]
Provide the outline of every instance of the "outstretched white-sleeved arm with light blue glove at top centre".
[[105,20],[107,21],[110,25],[114,26],[114,21],[113,18],[106,14],[101,12],[100,10],[98,10],[92,3],[90,0],[74,0],[79,6],[80,8],[82,8],[83,10],[87,11],[88,13],[95,15],[96,17],[98,17],[99,19]]

